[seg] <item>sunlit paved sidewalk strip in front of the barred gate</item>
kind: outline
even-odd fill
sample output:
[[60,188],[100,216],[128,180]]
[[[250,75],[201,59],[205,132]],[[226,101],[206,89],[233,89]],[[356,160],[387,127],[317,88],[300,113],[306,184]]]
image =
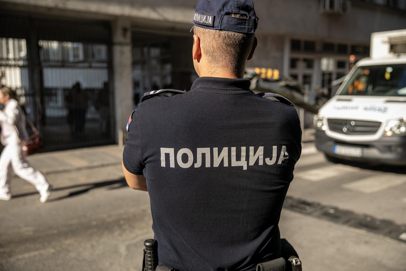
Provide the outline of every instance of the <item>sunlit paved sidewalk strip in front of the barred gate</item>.
[[28,156],[32,167],[44,174],[77,171],[121,164],[123,147],[108,145]]

